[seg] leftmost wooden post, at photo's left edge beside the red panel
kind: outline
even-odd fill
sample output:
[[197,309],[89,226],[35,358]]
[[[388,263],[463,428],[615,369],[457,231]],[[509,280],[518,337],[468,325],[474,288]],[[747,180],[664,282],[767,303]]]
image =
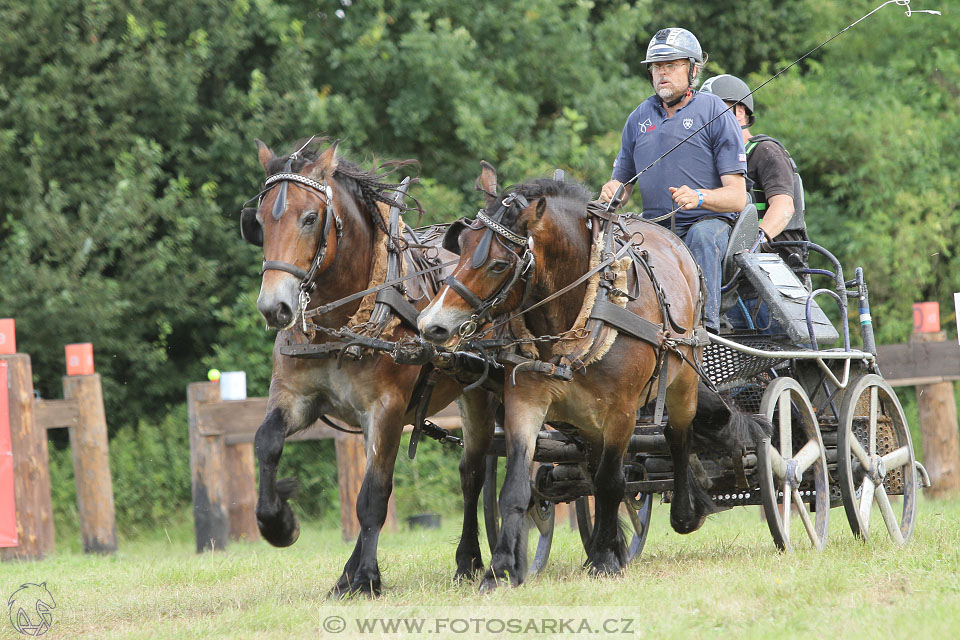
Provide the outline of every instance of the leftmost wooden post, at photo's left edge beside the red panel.
[[[54,550],[47,430],[38,428],[33,419],[33,369],[30,356],[17,353],[0,358],[7,361],[13,491],[19,543],[16,547],[0,549],[0,558],[37,560]],[[0,392],[7,393],[7,389]]]

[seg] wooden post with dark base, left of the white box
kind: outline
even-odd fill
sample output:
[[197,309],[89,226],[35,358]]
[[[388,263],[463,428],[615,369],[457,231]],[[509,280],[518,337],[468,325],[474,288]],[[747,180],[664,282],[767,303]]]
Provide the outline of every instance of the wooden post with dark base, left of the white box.
[[197,409],[200,404],[219,402],[216,382],[187,385],[187,414],[190,419],[190,469],[193,484],[193,526],[197,553],[225,549],[228,535],[226,444],[222,435],[200,433]]

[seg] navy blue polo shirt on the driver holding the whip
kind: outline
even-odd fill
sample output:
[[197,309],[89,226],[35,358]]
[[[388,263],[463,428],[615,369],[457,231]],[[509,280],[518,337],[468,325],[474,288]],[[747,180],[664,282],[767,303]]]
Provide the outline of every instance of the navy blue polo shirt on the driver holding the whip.
[[[613,164],[613,179],[629,181],[725,109],[727,105],[717,96],[695,91],[690,102],[668,119],[659,96],[644,100],[623,127],[620,153]],[[653,218],[676,207],[668,187],[687,185],[693,189],[717,189],[723,186],[721,175],[746,172],[747,157],[740,125],[727,110],[640,176],[634,190],[640,192],[644,216]],[[703,216],[732,220],[737,214],[720,214],[703,208],[681,210],[676,214],[677,232],[683,235]],[[669,226],[670,222],[661,224]]]

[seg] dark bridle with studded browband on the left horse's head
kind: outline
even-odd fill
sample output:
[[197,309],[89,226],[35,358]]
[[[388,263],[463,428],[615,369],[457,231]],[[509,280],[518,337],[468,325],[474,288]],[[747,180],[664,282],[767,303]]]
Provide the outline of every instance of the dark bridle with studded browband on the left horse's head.
[[[317,251],[314,254],[313,259],[310,261],[309,269],[303,270],[294,264],[280,260],[264,260],[263,265],[260,268],[260,275],[262,276],[267,271],[272,270],[285,271],[300,278],[300,294],[297,302],[299,306],[299,315],[303,317],[304,312],[307,309],[307,305],[310,304],[310,294],[317,286],[317,276],[319,275],[324,260],[326,260],[327,257],[327,249],[329,247],[327,244],[327,238],[330,237],[330,225],[333,224],[336,226],[335,244],[339,245],[340,239],[343,236],[343,220],[340,219],[340,215],[333,206],[333,189],[330,187],[327,181],[323,180],[323,182],[320,182],[314,180],[313,178],[308,178],[300,175],[299,173],[293,172],[291,170],[291,163],[293,160],[294,156],[291,155],[281,173],[275,173],[267,178],[266,182],[264,183],[264,189],[260,192],[260,202],[263,201],[264,195],[279,185],[280,192],[277,194],[277,199],[273,204],[273,211],[271,212],[273,219],[279,220],[283,217],[283,214],[287,209],[287,185],[289,183],[293,183],[295,186],[304,189],[304,191],[312,193],[323,202],[323,230],[320,232],[320,241],[317,243]],[[259,206],[257,208],[259,209]],[[306,324],[305,317],[304,324]]]

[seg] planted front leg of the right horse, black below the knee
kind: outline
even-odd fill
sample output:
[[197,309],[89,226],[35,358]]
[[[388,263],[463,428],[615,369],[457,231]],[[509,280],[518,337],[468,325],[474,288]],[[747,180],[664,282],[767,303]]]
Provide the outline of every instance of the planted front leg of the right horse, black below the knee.
[[527,577],[525,519],[530,508],[530,473],[537,434],[546,418],[547,407],[523,404],[515,399],[518,395],[511,393],[505,398],[507,470],[500,489],[500,537],[490,559],[490,568],[480,583],[480,593],[492,591],[501,584],[519,586]]

